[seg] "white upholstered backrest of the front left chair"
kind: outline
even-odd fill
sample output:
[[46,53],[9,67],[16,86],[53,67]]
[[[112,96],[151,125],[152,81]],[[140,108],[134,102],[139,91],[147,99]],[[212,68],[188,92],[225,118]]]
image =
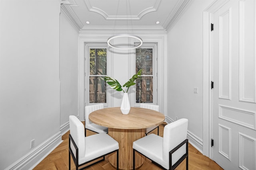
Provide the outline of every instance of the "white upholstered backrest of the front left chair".
[[[76,146],[78,147],[78,158],[84,158],[85,155],[85,137],[84,137],[84,125],[83,123],[74,115],[69,116],[69,127],[70,135],[74,139]],[[70,147],[76,156],[76,150],[70,141]],[[78,160],[78,162],[80,162]]]

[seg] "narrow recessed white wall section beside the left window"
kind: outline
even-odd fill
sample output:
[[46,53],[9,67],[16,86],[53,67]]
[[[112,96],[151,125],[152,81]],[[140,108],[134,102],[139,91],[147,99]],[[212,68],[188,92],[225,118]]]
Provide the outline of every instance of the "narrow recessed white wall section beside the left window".
[[78,115],[78,30],[60,14],[60,126],[69,129],[69,115]]

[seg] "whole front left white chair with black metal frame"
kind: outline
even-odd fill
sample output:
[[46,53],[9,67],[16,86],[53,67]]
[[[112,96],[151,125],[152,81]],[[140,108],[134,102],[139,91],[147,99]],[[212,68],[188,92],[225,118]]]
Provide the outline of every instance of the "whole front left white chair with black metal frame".
[[[70,154],[74,160],[76,170],[78,167],[92,162],[98,158],[103,157],[103,159],[92,163],[84,168],[92,166],[98,162],[105,160],[105,156],[116,152],[116,162],[118,170],[118,150],[119,145],[116,140],[110,137],[106,133],[98,133],[88,137],[84,137],[84,125],[79,119],[71,115],[69,116],[69,125],[70,125],[70,135],[69,135],[69,152],[68,152],[68,161],[69,161],[69,170],[70,170]],[[71,142],[70,142],[71,141]],[[80,170],[84,169],[81,168]]]

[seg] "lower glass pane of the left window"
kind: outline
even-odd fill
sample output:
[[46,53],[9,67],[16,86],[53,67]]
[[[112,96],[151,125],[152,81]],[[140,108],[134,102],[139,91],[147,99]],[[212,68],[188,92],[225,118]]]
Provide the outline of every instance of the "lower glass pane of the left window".
[[106,103],[106,82],[104,77],[90,76],[89,82],[90,103]]

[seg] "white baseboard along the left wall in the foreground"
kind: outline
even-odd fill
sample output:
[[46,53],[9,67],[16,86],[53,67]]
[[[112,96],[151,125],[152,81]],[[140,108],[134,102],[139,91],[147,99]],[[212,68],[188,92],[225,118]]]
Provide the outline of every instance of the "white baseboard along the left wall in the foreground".
[[59,131],[58,133],[44,141],[44,143],[40,144],[38,147],[28,152],[28,154],[8,166],[5,170],[32,170],[48,154],[50,154],[52,150],[54,150],[58,145],[60,145],[60,143],[62,143],[61,137],[62,135]]

